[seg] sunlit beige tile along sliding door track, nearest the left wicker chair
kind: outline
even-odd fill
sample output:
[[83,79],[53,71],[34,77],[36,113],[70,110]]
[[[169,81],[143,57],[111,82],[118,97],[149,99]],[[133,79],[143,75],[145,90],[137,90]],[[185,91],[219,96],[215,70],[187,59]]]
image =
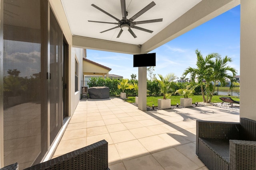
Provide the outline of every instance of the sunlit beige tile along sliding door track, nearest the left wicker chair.
[[86,146],[86,137],[60,141],[53,156],[60,156]]

